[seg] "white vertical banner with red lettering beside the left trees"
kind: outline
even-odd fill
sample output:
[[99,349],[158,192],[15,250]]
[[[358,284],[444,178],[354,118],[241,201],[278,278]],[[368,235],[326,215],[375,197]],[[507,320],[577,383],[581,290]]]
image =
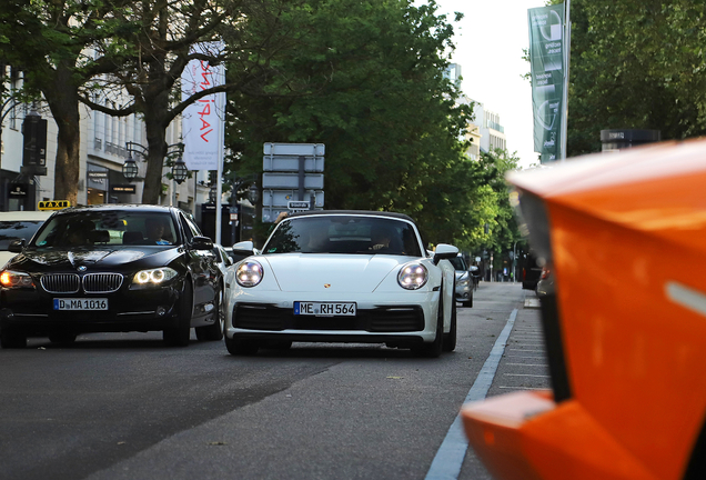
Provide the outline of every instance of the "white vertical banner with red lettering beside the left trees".
[[[223,50],[223,43],[209,42],[192,47],[192,51],[216,56]],[[181,76],[181,99],[225,82],[223,64],[211,66],[205,61],[192,60]],[[222,162],[225,93],[203,97],[182,113],[182,138],[184,142],[184,162],[189,170],[219,170]]]

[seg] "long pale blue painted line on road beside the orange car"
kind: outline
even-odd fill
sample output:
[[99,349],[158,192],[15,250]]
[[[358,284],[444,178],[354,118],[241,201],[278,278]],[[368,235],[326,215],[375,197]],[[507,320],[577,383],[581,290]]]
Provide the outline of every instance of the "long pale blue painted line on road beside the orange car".
[[[493,379],[495,378],[497,366],[503,358],[505,342],[510,337],[510,332],[515,324],[516,318],[517,309],[513,310],[505,323],[505,327],[503,328],[503,331],[500,336],[497,336],[497,340],[495,340],[491,354],[488,354],[481,372],[475,378],[475,382],[473,382],[473,387],[468,390],[468,394],[466,396],[464,403],[483,400],[487,394],[487,391],[493,383]],[[458,478],[458,473],[461,473],[461,466],[463,464],[463,459],[466,456],[467,449],[468,440],[463,432],[463,420],[461,419],[461,413],[458,413],[454,422],[448,428],[448,432],[446,432],[444,441],[436,451],[436,456],[426,472],[426,480],[456,480]]]

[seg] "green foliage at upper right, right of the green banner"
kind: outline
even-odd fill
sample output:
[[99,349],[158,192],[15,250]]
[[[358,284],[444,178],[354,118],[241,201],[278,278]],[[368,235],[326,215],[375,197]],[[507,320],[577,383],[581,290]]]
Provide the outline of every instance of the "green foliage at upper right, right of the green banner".
[[599,151],[602,129],[706,133],[703,1],[574,0],[571,17],[569,156]]

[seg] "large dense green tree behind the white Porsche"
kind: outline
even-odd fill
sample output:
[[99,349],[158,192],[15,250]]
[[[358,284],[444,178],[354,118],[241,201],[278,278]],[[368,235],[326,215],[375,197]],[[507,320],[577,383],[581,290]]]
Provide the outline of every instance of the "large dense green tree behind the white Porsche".
[[[306,79],[289,96],[280,77],[229,98],[230,170],[262,169],[263,142],[326,144],[326,209],[394,210],[432,243],[463,238],[472,221],[471,161],[462,141],[471,107],[443,77],[453,28],[436,4],[310,0],[282,18],[296,49],[270,64]],[[266,97],[266,98],[263,98]]]

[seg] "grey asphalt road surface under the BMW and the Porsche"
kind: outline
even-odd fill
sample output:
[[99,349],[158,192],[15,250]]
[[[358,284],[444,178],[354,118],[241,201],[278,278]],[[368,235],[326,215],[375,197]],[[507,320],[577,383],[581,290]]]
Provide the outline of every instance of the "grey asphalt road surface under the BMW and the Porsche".
[[[481,283],[456,351],[295,343],[231,357],[161,333],[0,350],[1,479],[424,479],[513,310],[488,396],[546,388],[538,309]],[[490,479],[468,449],[460,479]]]

